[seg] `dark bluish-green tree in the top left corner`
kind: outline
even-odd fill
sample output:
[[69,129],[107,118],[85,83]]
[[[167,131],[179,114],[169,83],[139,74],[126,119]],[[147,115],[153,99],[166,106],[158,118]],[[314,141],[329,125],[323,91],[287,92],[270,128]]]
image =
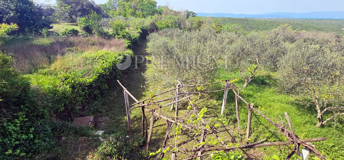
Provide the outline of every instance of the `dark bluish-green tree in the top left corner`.
[[20,33],[52,28],[51,18],[46,17],[31,0],[1,0],[0,11],[0,23],[15,23]]

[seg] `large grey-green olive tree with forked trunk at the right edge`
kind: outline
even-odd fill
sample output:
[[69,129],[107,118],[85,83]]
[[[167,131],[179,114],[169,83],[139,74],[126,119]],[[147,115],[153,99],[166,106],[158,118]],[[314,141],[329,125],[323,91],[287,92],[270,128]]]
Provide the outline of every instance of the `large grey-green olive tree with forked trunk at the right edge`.
[[344,115],[344,57],[339,53],[296,42],[278,67],[282,89],[300,96],[302,104],[315,107],[316,127]]

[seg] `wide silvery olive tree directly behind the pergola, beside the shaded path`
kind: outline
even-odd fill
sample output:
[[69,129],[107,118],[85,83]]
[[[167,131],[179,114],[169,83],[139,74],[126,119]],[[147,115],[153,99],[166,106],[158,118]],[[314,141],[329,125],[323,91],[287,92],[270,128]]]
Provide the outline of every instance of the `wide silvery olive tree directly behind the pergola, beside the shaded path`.
[[226,51],[230,33],[216,34],[211,28],[183,32],[164,29],[148,37],[149,53],[158,72],[151,77],[162,77],[166,84],[175,80],[183,83],[204,83],[216,74],[218,61]]

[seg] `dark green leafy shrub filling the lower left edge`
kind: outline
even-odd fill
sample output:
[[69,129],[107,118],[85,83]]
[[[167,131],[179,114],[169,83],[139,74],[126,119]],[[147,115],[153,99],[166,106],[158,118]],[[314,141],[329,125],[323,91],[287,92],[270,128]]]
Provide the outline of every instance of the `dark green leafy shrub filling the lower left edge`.
[[51,151],[54,144],[45,122],[47,103],[37,101],[29,82],[11,67],[12,61],[0,52],[0,159],[4,160]]

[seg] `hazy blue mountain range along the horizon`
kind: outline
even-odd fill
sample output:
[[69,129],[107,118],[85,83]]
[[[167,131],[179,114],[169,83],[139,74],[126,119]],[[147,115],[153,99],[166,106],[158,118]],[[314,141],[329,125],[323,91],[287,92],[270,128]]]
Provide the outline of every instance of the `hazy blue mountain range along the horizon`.
[[344,19],[344,11],[291,13],[275,12],[263,14],[233,14],[233,13],[197,13],[204,17],[233,17],[233,18],[290,18],[290,19]]

